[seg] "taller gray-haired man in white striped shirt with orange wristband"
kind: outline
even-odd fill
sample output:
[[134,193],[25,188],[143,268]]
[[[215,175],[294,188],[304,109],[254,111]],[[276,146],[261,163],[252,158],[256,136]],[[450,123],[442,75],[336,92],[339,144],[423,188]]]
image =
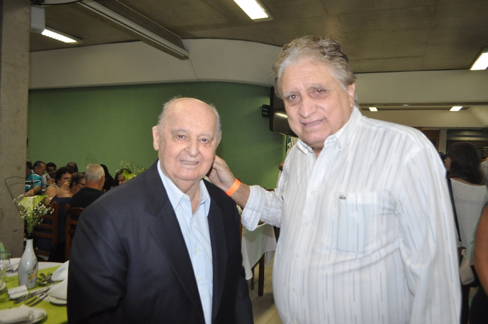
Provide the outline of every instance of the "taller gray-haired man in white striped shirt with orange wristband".
[[[459,323],[456,235],[445,169],[421,132],[361,115],[339,43],[303,37],[273,66],[300,140],[278,187],[210,179],[281,227],[273,292],[283,323]],[[357,159],[361,157],[362,163]]]

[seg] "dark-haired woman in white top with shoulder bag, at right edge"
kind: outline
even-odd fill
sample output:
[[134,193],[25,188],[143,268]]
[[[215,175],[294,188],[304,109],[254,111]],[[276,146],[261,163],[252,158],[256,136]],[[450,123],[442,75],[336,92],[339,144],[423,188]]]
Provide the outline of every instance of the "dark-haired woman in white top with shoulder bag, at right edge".
[[[480,169],[480,163],[480,156],[473,144],[458,142],[449,145],[445,162],[448,171],[447,177],[452,187],[461,241],[466,247],[470,264],[473,264],[476,226],[488,202],[488,190],[483,184],[484,176]],[[461,323],[467,323],[469,286],[463,286],[462,293]]]

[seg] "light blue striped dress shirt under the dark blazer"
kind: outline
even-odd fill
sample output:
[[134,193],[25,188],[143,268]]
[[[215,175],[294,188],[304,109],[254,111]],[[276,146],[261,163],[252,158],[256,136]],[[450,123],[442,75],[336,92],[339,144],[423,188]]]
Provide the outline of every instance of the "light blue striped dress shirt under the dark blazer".
[[195,214],[192,214],[190,197],[166,177],[161,170],[159,161],[158,172],[175,211],[183,233],[186,249],[190,255],[200,300],[202,301],[205,323],[210,324],[212,322],[213,296],[212,244],[207,221],[208,210],[210,209],[210,196],[203,180],[201,180],[200,202]]

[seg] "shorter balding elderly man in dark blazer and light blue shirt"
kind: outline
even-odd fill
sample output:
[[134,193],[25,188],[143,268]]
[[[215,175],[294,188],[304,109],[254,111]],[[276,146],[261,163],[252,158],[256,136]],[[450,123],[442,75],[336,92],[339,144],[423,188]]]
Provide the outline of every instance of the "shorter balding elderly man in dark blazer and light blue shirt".
[[221,139],[217,110],[173,99],[153,127],[159,160],[81,214],[69,323],[252,323],[239,214],[203,181]]

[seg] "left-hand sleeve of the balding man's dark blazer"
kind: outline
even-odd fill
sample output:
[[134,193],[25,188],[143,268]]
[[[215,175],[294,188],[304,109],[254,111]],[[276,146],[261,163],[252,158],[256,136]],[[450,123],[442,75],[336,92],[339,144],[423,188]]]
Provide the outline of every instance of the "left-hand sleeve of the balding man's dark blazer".
[[68,322],[127,323],[122,309],[127,253],[113,218],[100,204],[81,214],[69,261]]

